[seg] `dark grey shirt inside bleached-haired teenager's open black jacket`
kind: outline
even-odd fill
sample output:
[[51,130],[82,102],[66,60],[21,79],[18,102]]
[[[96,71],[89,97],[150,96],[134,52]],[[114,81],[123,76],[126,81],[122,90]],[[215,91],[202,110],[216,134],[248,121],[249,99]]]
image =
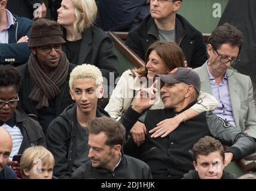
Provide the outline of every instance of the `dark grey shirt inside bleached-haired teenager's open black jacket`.
[[81,126],[77,122],[77,152],[75,152],[75,159],[73,164],[73,171],[80,167],[85,162],[89,161],[89,146],[88,146],[88,134],[86,127]]

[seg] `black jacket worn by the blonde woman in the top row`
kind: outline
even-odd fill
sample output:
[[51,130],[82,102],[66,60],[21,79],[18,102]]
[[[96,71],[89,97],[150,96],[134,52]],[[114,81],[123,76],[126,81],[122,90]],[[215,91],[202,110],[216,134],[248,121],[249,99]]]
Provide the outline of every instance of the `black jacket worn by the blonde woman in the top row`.
[[[65,44],[62,50],[66,53]],[[114,53],[114,45],[106,33],[92,26],[83,32],[81,47],[79,50],[78,63],[93,64],[102,72],[102,76],[109,81],[109,72],[114,72],[115,78],[118,76],[119,62]]]

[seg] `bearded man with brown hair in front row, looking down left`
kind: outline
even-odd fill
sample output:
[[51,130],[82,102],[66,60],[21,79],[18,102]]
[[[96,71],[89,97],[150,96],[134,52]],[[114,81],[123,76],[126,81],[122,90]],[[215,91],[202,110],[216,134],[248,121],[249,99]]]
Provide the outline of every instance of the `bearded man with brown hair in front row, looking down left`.
[[145,162],[124,155],[126,129],[111,118],[94,118],[87,126],[90,161],[78,168],[72,178],[150,179]]

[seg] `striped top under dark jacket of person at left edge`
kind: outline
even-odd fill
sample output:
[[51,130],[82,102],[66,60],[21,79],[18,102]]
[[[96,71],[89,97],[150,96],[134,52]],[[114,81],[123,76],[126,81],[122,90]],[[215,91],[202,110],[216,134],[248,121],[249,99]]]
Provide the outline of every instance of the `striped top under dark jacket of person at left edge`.
[[11,138],[13,138],[13,150],[11,150],[10,160],[13,160],[13,156],[17,155],[20,149],[20,145],[22,144],[23,135],[20,131],[19,127],[14,125],[14,127],[10,127],[7,124],[2,125],[5,130],[9,131],[11,134]]

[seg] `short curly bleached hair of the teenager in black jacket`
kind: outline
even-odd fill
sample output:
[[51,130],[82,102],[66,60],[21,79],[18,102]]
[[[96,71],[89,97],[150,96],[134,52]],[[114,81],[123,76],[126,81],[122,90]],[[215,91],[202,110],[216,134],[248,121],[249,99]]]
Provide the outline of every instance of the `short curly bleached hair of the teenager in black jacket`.
[[69,88],[73,88],[74,81],[76,79],[86,79],[91,78],[95,80],[95,84],[97,88],[102,88],[103,85],[103,77],[99,68],[91,64],[82,64],[75,67],[70,73],[69,78]]

